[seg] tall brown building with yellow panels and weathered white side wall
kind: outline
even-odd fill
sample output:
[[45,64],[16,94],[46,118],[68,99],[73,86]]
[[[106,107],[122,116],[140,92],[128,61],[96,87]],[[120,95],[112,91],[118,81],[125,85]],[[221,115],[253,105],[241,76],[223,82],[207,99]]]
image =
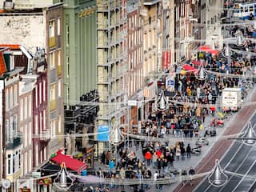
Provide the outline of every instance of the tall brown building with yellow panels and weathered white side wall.
[[[25,2],[24,2],[25,3]],[[0,43],[22,44],[34,53],[37,47],[45,49],[46,53],[46,90],[47,108],[46,127],[50,127],[51,140],[47,145],[47,158],[64,146],[63,134],[63,33],[62,33],[62,3],[45,8],[18,11],[4,11],[0,14],[1,26],[5,28],[0,34]]]

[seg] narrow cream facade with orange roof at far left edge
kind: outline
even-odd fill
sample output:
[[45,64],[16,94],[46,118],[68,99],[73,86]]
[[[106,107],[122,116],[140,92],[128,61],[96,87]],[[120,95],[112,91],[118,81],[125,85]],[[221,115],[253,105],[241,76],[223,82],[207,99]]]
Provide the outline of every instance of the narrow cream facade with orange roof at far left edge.
[[14,67],[14,54],[9,47],[2,47],[0,55],[2,90],[1,103],[1,179],[14,181],[22,176],[22,136],[19,129],[19,73]]

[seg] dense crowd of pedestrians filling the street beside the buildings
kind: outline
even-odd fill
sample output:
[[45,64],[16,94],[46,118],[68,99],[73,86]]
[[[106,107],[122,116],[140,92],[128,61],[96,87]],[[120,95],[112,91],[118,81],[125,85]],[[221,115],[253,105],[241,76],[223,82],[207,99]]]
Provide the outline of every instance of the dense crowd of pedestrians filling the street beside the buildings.
[[[250,42],[246,45],[251,46]],[[214,116],[216,111],[222,110],[218,99],[222,95],[222,89],[241,87],[241,76],[230,77],[223,74],[246,75],[256,63],[255,58],[246,58],[236,53],[233,53],[230,59],[206,54],[204,60],[203,65],[208,71],[207,78],[203,81],[199,80],[194,72],[177,74],[174,96],[169,98],[169,109],[152,111],[146,121],[141,122],[141,129],[133,134],[156,138],[198,137],[206,116]],[[133,143],[136,150],[131,147]],[[130,142],[118,146],[118,151],[103,152],[101,163],[108,169],[99,168],[97,174],[100,178],[113,179],[107,187],[110,189],[121,187],[121,190],[125,190],[124,186],[116,185],[114,179],[151,178],[157,181],[158,178],[193,175],[196,173],[193,167],[189,170],[183,168],[180,173],[175,169],[175,162],[189,160],[192,151],[193,147],[190,143],[185,145],[183,142],[176,142],[170,145],[168,142],[149,142],[130,137]],[[189,181],[184,179],[183,184],[185,185],[186,182],[193,184],[192,179]],[[138,192],[150,188],[149,184],[143,182],[130,186]],[[155,187],[157,190],[162,190],[163,185],[155,185]]]

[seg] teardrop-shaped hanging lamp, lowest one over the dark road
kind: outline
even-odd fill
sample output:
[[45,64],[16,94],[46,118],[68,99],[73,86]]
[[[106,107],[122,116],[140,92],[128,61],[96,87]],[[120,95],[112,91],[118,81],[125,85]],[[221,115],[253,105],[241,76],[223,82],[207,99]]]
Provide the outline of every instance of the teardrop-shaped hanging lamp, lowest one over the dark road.
[[224,186],[228,180],[228,176],[224,174],[221,166],[219,165],[218,159],[215,160],[214,171],[209,175],[208,181],[212,186]]

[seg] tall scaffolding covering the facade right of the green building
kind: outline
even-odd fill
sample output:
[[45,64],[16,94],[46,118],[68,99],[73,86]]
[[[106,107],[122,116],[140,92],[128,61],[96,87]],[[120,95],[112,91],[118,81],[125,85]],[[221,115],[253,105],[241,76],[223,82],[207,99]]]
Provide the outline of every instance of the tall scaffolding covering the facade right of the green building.
[[123,78],[126,73],[127,14],[125,1],[97,0],[97,50],[98,50],[98,125],[108,125],[112,118],[126,112],[121,106],[108,105],[123,102]]

